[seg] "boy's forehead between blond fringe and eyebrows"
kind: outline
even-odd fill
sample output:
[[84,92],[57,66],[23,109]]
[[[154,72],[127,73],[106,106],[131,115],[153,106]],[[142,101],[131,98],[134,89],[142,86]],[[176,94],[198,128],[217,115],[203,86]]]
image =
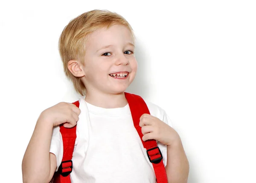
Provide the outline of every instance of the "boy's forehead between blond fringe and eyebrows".
[[87,49],[98,48],[106,45],[120,45],[134,43],[133,35],[126,26],[113,25],[109,28],[100,28],[88,35]]

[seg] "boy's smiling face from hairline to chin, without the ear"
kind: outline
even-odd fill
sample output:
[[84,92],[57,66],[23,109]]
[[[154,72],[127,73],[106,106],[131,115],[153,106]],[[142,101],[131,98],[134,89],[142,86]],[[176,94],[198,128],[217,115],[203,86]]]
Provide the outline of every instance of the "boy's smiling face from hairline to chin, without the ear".
[[134,40],[129,29],[122,25],[98,29],[87,37],[85,46],[83,82],[87,93],[124,92],[137,72]]

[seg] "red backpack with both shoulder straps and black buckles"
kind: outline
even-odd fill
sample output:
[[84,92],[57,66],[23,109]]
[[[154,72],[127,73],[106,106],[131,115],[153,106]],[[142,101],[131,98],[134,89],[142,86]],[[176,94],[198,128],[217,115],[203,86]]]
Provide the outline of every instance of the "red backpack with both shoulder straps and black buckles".
[[[163,165],[163,156],[157,146],[156,140],[142,140],[143,134],[139,126],[140,117],[142,114],[150,114],[148,107],[142,97],[135,94],[125,92],[125,97],[128,101],[131,116],[134,122],[134,127],[137,130],[143,147],[146,149],[149,161],[153,164],[157,183],[167,183],[166,169]],[[79,101],[74,102],[79,107]],[[60,132],[63,139],[63,158],[58,171],[52,177],[50,183],[71,183],[70,173],[73,169],[72,156],[76,141],[76,126],[73,128],[64,128],[60,125]]]

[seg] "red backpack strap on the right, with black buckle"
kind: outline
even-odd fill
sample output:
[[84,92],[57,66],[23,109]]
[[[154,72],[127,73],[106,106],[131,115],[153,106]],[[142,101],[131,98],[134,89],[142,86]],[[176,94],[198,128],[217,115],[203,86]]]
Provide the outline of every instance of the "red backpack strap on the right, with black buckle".
[[125,92],[125,97],[130,106],[134,127],[140,136],[140,140],[143,143],[144,148],[147,149],[149,161],[153,165],[157,183],[167,183],[166,169],[163,165],[163,156],[157,146],[156,140],[146,140],[145,142],[142,140],[143,134],[139,125],[140,117],[145,113],[150,114],[148,107],[143,98],[138,95]]

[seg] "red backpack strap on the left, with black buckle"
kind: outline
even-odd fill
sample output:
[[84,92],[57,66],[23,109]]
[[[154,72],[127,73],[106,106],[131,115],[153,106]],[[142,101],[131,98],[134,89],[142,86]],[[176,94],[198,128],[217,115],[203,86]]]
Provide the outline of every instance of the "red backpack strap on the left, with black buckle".
[[[73,104],[79,107],[79,101]],[[61,124],[60,132],[63,140],[63,157],[61,165],[58,168],[58,176],[54,177],[54,183],[71,183],[70,173],[73,169],[72,157],[76,142],[76,126],[65,128],[63,124]]]

